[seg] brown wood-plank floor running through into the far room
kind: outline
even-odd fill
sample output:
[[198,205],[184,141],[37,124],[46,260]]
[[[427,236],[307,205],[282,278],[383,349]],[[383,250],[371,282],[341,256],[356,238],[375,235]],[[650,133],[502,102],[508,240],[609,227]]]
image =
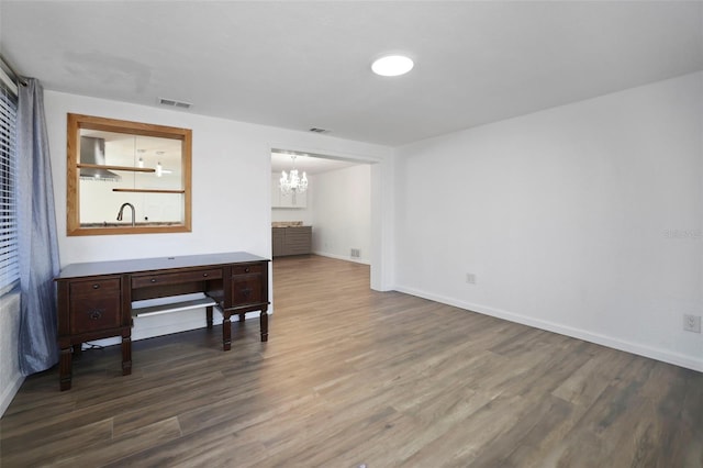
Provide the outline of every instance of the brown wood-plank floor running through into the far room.
[[[32,376],[0,465],[702,467],[703,374],[395,292],[368,267],[274,263],[258,321],[83,353]],[[204,319],[203,319],[204,321]]]

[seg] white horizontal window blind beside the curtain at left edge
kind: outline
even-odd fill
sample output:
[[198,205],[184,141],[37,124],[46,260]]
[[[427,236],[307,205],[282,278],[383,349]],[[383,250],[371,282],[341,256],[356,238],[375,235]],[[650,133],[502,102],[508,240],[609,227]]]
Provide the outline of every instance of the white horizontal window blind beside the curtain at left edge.
[[16,86],[0,73],[0,296],[20,279],[18,253]]

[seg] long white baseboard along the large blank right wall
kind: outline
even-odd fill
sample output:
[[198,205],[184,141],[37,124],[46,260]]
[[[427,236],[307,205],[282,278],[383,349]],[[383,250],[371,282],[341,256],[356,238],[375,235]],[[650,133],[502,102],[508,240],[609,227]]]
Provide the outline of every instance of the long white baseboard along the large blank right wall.
[[662,363],[673,364],[674,366],[685,367],[687,369],[703,372],[703,359],[695,359],[691,356],[682,355],[679,353],[672,353],[667,349],[654,348],[647,345],[643,345],[640,343],[633,343],[633,342],[620,339],[613,336],[601,335],[598,333],[588,332],[585,330],[574,328],[571,326],[566,326],[558,323],[549,322],[549,321],[544,321],[544,320],[534,319],[531,316],[521,315],[513,312],[493,309],[493,308],[489,308],[481,304],[464,302],[453,298],[433,294],[433,293],[414,289],[414,288],[395,287],[395,290],[406,294],[416,296],[419,298],[428,299],[431,301],[440,302],[443,304],[453,305],[459,309],[465,309],[471,312],[478,312],[483,315],[491,315],[496,319],[506,320],[509,322],[515,322],[522,325],[533,326],[535,328],[545,330],[547,332],[558,333],[560,335],[583,339],[584,342],[595,343],[598,345],[607,346],[613,349],[636,354],[639,356],[660,360]]

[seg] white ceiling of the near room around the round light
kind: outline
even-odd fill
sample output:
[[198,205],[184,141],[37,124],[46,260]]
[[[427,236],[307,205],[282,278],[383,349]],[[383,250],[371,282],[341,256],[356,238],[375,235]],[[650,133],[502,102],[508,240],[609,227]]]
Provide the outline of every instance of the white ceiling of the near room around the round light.
[[[398,146],[703,69],[703,2],[0,1],[46,89]],[[415,59],[383,78],[387,52]]]

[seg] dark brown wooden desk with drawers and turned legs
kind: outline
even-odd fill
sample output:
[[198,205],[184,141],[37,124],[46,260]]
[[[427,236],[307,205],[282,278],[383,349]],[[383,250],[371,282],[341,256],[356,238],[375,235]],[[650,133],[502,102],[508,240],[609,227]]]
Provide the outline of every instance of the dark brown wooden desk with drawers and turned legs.
[[59,382],[71,386],[71,350],[81,344],[122,337],[122,375],[132,374],[132,301],[204,292],[223,314],[222,347],[231,348],[231,316],[260,311],[261,342],[268,341],[268,259],[245,252],[72,264],[58,287]]

